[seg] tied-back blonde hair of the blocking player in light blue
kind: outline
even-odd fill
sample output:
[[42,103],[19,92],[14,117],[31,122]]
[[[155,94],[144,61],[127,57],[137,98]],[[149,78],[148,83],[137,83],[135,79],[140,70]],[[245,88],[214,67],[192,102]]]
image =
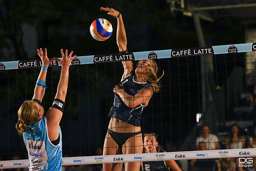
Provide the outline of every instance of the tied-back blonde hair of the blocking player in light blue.
[[16,123],[16,130],[19,134],[28,131],[29,125],[38,122],[39,109],[33,105],[32,101],[25,101],[18,110],[18,122]]

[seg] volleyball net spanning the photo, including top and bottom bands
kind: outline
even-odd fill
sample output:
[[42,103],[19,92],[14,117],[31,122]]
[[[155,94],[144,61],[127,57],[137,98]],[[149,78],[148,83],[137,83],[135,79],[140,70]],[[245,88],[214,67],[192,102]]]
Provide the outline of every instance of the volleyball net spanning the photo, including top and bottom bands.
[[[60,123],[62,164],[256,156],[256,148],[250,148],[255,107],[249,99],[256,84],[254,51],[256,43],[76,57]],[[143,59],[155,59],[164,76],[160,92],[144,109],[141,129],[156,133],[166,153],[102,156],[113,88],[123,74],[118,61]],[[27,150],[15,124],[19,106],[33,97],[40,66],[40,59],[0,62],[0,169],[28,166]],[[45,110],[56,94],[58,66],[53,61],[48,68]],[[244,149],[226,149],[233,123],[245,137]],[[204,124],[218,137],[218,150],[197,151],[196,139]]]

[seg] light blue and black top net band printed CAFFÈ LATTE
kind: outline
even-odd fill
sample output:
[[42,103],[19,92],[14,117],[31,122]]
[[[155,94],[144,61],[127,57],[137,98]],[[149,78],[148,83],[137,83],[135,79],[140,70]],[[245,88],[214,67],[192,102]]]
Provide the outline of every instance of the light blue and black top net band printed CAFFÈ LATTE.
[[[126,54],[89,55],[76,57],[71,65],[87,65],[91,63],[116,62],[125,60],[163,59],[182,56],[198,56],[209,54],[227,54],[256,51],[256,43],[221,45],[202,48],[183,48],[158,51],[144,51]],[[59,58],[61,59],[61,58]],[[51,66],[60,66],[54,60]],[[40,59],[0,62],[0,70],[14,70],[41,67]]]

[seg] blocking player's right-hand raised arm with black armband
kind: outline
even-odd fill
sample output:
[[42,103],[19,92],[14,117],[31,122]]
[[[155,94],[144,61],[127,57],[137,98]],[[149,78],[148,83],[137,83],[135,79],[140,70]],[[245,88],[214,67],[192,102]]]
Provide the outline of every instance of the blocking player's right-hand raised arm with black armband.
[[63,107],[65,104],[65,99],[66,99],[66,94],[68,89],[69,67],[70,67],[71,61],[76,57],[76,56],[71,57],[72,54],[73,54],[73,51],[68,56],[68,50],[66,50],[64,54],[63,50],[61,49],[62,59],[59,60],[58,58],[56,58],[56,60],[61,65],[61,73],[60,73],[57,93],[55,95],[53,105],[49,109],[46,115],[48,135],[51,141],[56,140],[59,135],[58,126],[59,126],[60,119],[62,117]]

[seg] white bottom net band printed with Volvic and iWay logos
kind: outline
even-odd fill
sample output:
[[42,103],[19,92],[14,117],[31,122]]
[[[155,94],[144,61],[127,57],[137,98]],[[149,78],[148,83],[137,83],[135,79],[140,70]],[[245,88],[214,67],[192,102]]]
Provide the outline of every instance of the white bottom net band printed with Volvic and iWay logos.
[[[214,159],[214,158],[235,158],[255,157],[256,148],[243,149],[222,149],[210,151],[187,151],[187,152],[165,152],[165,153],[143,153],[128,155],[109,156],[83,156],[65,157],[62,165],[80,164],[101,164],[101,163],[122,163],[141,161],[162,161],[162,160],[191,160],[191,159]],[[23,168],[28,167],[28,160],[0,161],[1,168]]]

